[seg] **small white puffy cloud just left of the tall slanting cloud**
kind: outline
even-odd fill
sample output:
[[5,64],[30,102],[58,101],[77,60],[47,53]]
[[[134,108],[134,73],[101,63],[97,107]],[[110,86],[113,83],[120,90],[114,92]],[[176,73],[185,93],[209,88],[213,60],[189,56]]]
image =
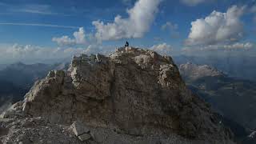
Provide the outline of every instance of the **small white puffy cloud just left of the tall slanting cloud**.
[[73,45],[85,45],[86,34],[83,27],[80,27],[78,31],[74,32],[74,38],[68,36],[62,36],[60,38],[52,38],[53,42],[57,42],[59,46],[73,46]]

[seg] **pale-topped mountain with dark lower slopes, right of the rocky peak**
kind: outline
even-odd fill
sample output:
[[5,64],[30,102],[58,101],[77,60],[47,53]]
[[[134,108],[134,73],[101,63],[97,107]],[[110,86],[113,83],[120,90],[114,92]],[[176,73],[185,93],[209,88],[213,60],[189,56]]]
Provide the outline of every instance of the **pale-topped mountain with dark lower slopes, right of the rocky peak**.
[[190,90],[227,118],[233,129],[238,129],[233,131],[245,135],[256,129],[256,82],[230,78],[206,65],[186,63],[179,70]]

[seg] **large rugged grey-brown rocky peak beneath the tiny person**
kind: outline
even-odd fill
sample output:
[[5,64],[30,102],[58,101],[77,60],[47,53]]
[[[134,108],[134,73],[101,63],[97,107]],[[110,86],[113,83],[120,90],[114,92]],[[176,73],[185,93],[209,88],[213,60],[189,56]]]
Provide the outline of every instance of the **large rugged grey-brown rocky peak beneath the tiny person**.
[[218,114],[153,50],[82,54],[0,118],[2,143],[234,143]]

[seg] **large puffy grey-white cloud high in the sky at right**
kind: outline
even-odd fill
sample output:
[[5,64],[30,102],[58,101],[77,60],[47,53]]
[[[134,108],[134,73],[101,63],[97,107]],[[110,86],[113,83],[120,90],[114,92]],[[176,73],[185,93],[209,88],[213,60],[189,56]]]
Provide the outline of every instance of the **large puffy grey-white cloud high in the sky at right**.
[[186,45],[212,45],[219,42],[234,42],[242,38],[243,26],[240,20],[245,6],[231,6],[226,13],[213,11],[206,18],[191,22]]

